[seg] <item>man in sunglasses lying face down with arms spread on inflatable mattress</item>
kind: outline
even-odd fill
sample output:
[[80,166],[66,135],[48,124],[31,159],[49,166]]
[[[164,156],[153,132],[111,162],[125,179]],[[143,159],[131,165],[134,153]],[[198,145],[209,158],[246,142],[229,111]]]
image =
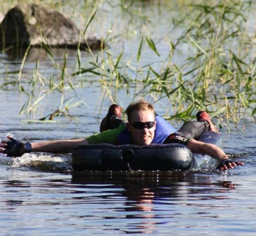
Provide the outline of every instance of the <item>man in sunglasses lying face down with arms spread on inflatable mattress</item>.
[[110,143],[114,145],[134,144],[138,146],[151,143],[181,143],[193,153],[209,155],[219,161],[220,171],[231,169],[242,162],[232,161],[224,151],[211,143],[196,140],[203,132],[218,130],[211,122],[206,111],[199,111],[197,121],[186,122],[179,131],[159,115],[155,115],[152,104],[139,100],[126,109],[128,122],[121,120],[121,107],[113,104],[107,116],[101,122],[101,133],[83,139],[53,140],[40,143],[20,142],[11,136],[9,141],[2,141],[0,153],[7,157],[20,157],[30,152],[70,153],[73,149],[85,144]]

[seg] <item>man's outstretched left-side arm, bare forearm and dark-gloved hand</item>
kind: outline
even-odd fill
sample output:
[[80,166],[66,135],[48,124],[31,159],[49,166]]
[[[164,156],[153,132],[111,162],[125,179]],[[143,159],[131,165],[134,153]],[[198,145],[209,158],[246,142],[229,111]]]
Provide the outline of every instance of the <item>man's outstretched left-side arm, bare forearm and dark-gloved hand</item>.
[[[21,157],[27,151],[24,149],[24,143],[7,136],[8,141],[1,141],[0,153],[7,154],[7,157]],[[32,152],[48,153],[70,153],[80,145],[88,144],[87,139],[65,139],[52,140],[40,143],[31,143]]]

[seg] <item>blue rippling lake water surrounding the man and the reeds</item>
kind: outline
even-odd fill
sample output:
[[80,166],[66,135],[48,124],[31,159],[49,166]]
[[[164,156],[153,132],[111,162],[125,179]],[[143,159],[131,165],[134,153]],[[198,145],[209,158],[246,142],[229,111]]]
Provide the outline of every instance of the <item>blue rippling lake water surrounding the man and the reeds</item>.
[[[162,24],[157,34],[166,32],[167,26]],[[140,37],[123,39],[127,61],[132,54],[136,58],[139,42]],[[136,45],[134,50],[131,45]],[[120,42],[112,45],[112,52],[118,55],[119,46]],[[162,41],[157,46],[161,55],[166,53],[168,43]],[[69,68],[75,55],[69,51]],[[63,56],[63,50],[54,50],[57,61]],[[32,49],[22,81],[32,77],[36,58],[40,58],[44,76],[54,73],[49,57]],[[83,63],[88,58],[83,52]],[[182,59],[177,55],[175,60]],[[154,54],[144,50],[143,63],[152,61],[156,61]],[[1,84],[5,73],[19,70],[20,65],[21,58],[0,54]],[[12,133],[18,139],[43,141],[99,132],[101,118],[111,103],[105,100],[99,112],[102,88],[98,82],[85,82],[76,92],[85,101],[83,107],[70,111],[78,116],[78,122],[61,117],[56,118],[57,123],[29,123],[26,121],[34,119],[32,115],[18,115],[28,97],[17,87],[1,89],[0,138]],[[72,96],[72,91],[65,96]],[[118,96],[123,107],[132,98],[126,89],[120,89]],[[59,93],[49,96],[36,118],[56,110],[60,97]],[[180,123],[174,125],[178,128]],[[255,235],[256,124],[242,121],[239,128],[221,130],[225,152],[245,163],[226,175],[215,167],[186,172],[74,172],[70,155],[25,154],[12,159],[0,154],[0,235]]]

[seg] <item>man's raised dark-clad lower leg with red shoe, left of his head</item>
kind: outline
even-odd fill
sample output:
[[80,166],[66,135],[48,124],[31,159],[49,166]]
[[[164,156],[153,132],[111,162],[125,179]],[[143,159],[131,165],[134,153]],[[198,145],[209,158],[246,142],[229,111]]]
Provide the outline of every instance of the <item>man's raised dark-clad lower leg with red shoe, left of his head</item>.
[[120,125],[126,125],[126,123],[120,119],[122,114],[122,108],[116,104],[112,104],[108,109],[108,114],[101,121],[100,131],[106,131],[108,129],[116,129]]

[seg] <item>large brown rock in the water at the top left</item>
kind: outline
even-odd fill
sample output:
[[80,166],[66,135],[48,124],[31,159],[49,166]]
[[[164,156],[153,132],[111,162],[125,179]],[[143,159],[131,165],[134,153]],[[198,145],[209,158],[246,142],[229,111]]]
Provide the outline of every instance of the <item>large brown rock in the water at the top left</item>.
[[[42,42],[52,47],[76,48],[79,43],[80,30],[74,22],[58,11],[40,5],[17,5],[7,12],[0,23],[0,47],[7,46],[39,47]],[[91,37],[87,39],[91,49],[100,49],[104,45],[101,40]],[[81,37],[80,46],[87,48]]]

